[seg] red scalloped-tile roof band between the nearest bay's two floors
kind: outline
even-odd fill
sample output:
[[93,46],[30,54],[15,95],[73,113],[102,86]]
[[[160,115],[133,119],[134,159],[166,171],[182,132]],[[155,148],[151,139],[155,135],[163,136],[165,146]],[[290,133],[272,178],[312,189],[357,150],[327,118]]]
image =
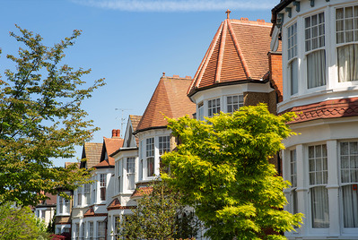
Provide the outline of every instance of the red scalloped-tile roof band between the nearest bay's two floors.
[[327,100],[301,107],[292,107],[284,112],[289,111],[297,113],[297,118],[289,124],[316,119],[358,116],[358,98]]

